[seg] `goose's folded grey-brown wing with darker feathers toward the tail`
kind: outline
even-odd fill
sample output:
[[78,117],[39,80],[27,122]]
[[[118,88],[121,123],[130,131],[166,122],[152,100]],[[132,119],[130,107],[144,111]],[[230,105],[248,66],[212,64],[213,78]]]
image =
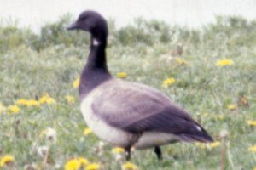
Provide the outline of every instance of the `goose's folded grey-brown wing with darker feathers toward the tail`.
[[203,127],[160,92],[132,82],[108,83],[91,107],[111,126],[131,133],[172,133],[187,142],[212,141]]

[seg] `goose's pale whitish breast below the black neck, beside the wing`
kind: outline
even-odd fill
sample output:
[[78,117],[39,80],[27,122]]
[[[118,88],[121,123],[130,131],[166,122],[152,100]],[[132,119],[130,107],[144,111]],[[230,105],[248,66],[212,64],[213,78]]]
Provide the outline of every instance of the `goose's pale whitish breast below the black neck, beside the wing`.
[[94,95],[86,96],[81,102],[80,108],[85,122],[96,136],[119,147],[125,147],[135,143],[138,138],[137,135],[125,132],[117,127],[112,127],[108,125],[108,123],[104,122],[100,117],[96,116],[94,111],[91,109],[93,96]]

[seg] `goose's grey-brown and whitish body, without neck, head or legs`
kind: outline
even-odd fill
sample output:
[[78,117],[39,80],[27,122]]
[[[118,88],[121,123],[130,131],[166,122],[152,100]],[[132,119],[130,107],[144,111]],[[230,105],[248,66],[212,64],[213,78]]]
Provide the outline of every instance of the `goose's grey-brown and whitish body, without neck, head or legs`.
[[164,94],[135,82],[110,79],[81,101],[88,126],[110,144],[137,149],[177,141],[204,141],[205,130]]

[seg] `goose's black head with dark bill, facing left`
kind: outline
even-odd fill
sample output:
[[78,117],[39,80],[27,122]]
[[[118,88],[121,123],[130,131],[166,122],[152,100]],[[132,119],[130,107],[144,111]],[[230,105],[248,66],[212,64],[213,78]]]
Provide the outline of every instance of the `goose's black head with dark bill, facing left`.
[[106,39],[108,37],[107,21],[101,14],[95,11],[84,11],[79,14],[79,18],[68,26],[67,30],[88,31],[90,35],[97,40]]

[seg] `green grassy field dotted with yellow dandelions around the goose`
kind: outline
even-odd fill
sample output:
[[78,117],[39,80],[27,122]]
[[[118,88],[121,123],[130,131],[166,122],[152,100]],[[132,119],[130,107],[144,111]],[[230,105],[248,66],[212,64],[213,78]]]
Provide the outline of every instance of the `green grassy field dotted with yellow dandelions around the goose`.
[[[0,159],[14,158],[0,169],[63,169],[77,157],[102,170],[125,163],[121,150],[84,134],[73,81],[89,53],[88,35],[65,31],[69,21],[48,24],[40,35],[0,26]],[[218,17],[200,30],[155,20],[116,29],[110,21],[108,67],[159,88],[216,140],[165,145],[163,161],[153,150],[134,150],[137,169],[256,168],[256,21]],[[163,86],[167,78],[174,81]]]

